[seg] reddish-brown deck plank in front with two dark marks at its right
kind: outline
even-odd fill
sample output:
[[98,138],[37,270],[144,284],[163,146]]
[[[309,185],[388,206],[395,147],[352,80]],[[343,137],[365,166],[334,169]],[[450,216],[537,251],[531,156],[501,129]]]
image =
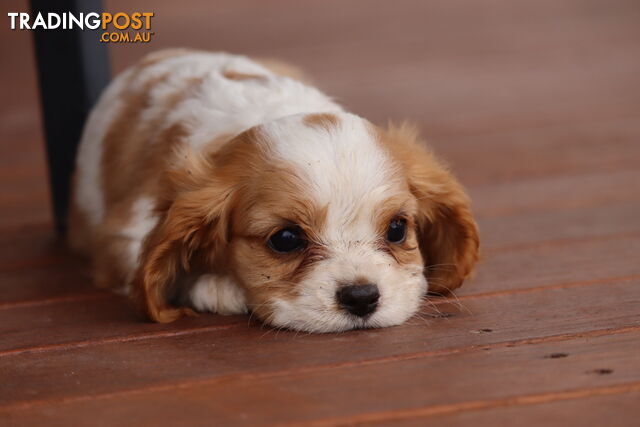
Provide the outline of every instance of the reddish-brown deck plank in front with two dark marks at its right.
[[[639,343],[640,331],[636,330],[563,342],[478,348],[446,356],[335,365],[330,374],[325,369],[288,369],[155,386],[100,398],[58,395],[0,410],[5,419],[14,422],[53,419],[69,424],[101,417],[112,424],[153,424],[178,417],[190,424],[206,415],[221,425],[391,422],[507,406],[521,400],[544,402],[637,391],[640,365],[634,362]],[[551,356],[559,351],[566,356]],[[301,353],[296,356],[303,357]],[[158,366],[154,364],[154,368]],[[638,409],[625,420],[636,419],[637,414]]]

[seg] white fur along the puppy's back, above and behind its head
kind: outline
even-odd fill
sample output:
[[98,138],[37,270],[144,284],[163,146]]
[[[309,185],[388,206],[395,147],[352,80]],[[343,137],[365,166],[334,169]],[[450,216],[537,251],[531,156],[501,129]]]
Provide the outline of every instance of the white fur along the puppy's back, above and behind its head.
[[[150,59],[162,51],[149,56]],[[261,79],[231,80],[225,71],[264,76]],[[102,144],[113,120],[122,111],[126,94],[166,76],[153,85],[149,105],[141,123],[163,112],[166,99],[184,91],[192,79],[202,79],[193,96],[175,106],[156,129],[161,132],[174,123],[184,123],[192,134],[189,145],[196,151],[218,136],[233,136],[258,124],[298,113],[342,111],[331,99],[297,80],[273,74],[244,56],[227,53],[189,52],[169,57],[134,74],[131,68],[119,75],[102,94],[87,120],[76,160],[75,201],[97,226],[104,219],[101,160]]]

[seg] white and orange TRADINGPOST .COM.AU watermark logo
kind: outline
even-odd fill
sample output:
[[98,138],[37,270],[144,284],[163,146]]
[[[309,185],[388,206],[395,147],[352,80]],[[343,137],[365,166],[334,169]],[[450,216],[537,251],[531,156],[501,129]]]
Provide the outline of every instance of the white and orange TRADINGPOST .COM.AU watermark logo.
[[102,30],[101,43],[149,43],[155,35],[151,31],[153,12],[89,12],[38,13],[9,12],[12,30]]

